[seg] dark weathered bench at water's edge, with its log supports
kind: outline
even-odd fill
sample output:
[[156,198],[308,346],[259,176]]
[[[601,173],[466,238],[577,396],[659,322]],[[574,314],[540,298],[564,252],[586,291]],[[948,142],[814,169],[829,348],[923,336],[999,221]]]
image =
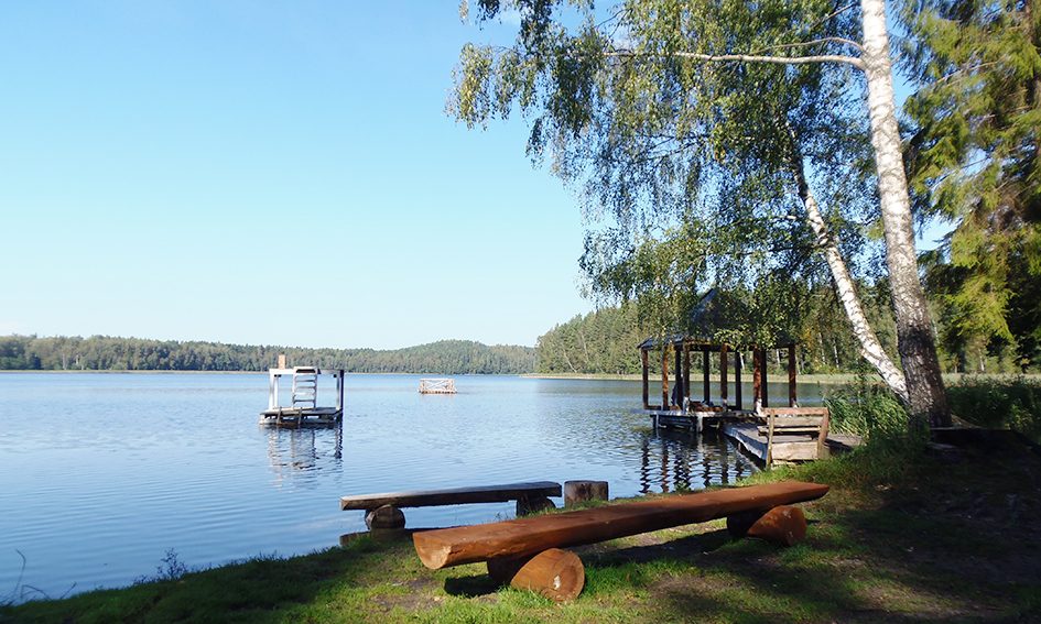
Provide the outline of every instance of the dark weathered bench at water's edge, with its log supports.
[[508,503],[517,501],[517,515],[555,507],[549,496],[560,496],[561,484],[553,481],[533,483],[508,483],[505,485],[479,485],[475,488],[449,488],[446,490],[421,490],[416,492],[391,492],[387,494],[362,494],[343,496],[340,510],[364,510],[365,524],[369,528],[403,528],[404,514],[401,507],[430,507],[437,505],[464,505],[470,503]]

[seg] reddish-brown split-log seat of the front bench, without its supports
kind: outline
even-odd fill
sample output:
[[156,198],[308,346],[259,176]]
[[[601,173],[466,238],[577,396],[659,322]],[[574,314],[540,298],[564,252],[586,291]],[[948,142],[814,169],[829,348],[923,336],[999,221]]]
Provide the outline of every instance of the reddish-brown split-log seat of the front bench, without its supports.
[[490,559],[525,557],[550,548],[596,544],[745,512],[768,511],[778,505],[820,499],[828,489],[828,485],[816,483],[783,481],[418,532],[413,534],[412,540],[423,565],[438,570]]

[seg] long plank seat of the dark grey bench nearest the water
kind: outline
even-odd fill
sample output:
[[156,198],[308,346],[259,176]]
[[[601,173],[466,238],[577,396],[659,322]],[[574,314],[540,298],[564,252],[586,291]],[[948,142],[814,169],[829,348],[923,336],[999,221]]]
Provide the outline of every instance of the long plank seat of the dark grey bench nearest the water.
[[343,496],[340,510],[375,510],[383,505],[395,507],[427,507],[434,505],[465,505],[470,503],[506,503],[532,496],[561,496],[560,483],[536,481],[533,483],[509,483],[506,485],[481,485],[477,488],[449,488],[445,490],[421,490],[416,492],[391,492],[387,494],[362,494]]

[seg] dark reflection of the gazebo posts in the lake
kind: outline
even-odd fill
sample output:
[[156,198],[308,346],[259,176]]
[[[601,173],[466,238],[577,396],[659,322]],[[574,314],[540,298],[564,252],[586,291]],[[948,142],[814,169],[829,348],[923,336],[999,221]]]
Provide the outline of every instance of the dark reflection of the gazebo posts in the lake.
[[752,472],[756,464],[736,450],[726,436],[706,431],[659,429],[646,431],[641,439],[640,493],[655,489],[701,490],[727,484]]

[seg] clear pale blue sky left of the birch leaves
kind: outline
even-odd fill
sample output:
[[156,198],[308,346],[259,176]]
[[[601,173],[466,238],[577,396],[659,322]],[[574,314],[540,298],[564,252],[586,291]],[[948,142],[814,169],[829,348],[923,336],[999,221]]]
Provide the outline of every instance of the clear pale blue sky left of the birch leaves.
[[534,344],[578,295],[527,123],[443,112],[458,0],[0,3],[0,335]]

